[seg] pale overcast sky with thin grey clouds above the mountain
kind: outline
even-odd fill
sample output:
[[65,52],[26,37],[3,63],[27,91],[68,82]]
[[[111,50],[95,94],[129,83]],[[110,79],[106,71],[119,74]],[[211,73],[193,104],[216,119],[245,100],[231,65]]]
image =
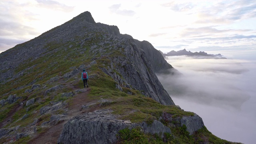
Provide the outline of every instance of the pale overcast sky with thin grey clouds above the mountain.
[[0,0],[0,52],[85,11],[163,52],[256,46],[256,0]]

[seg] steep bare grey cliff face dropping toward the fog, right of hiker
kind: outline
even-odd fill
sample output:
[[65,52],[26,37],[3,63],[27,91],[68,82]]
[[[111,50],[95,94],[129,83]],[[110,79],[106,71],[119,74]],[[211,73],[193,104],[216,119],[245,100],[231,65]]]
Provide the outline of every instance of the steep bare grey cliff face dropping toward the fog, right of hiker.
[[[110,66],[108,69],[100,67],[103,72],[111,76],[118,85],[136,90],[142,94],[153,98],[164,105],[174,105],[169,94],[164,90],[159,82],[150,62],[146,58],[145,52],[138,47],[133,39],[118,39],[117,47],[124,49],[122,54],[110,57]],[[121,75],[116,74],[119,72]],[[122,78],[121,78],[122,77]],[[119,87],[117,85],[117,88]],[[118,88],[121,90],[120,88]]]

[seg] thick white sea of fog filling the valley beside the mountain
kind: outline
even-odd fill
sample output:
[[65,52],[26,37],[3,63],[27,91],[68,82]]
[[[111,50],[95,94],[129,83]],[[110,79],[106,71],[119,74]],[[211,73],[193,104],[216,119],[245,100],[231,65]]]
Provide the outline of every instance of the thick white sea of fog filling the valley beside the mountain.
[[171,56],[180,76],[158,75],[174,103],[195,112],[219,138],[256,142],[256,50],[212,51],[227,59]]

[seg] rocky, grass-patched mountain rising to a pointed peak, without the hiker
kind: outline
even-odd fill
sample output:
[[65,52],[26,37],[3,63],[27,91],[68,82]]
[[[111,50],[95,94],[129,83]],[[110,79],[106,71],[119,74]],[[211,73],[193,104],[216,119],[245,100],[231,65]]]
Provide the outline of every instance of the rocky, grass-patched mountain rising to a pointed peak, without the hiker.
[[176,106],[162,72],[178,73],[152,44],[84,12],[0,54],[0,143],[233,143]]

